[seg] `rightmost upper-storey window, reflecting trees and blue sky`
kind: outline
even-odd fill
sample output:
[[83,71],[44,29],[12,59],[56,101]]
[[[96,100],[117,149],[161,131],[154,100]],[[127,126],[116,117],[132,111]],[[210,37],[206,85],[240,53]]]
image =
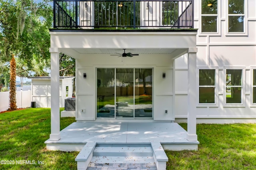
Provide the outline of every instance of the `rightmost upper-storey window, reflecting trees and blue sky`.
[[228,32],[244,30],[244,0],[228,0]]

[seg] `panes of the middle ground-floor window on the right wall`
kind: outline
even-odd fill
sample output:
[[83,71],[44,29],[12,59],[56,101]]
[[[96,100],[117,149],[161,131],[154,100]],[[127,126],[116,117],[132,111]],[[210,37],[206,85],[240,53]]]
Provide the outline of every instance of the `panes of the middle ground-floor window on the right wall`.
[[226,69],[226,104],[242,104],[242,69]]

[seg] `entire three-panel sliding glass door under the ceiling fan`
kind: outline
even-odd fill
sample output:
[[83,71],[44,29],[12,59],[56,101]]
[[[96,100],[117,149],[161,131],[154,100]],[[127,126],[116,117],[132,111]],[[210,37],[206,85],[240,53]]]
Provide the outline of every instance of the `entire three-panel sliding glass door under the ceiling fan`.
[[97,118],[152,118],[152,68],[97,68]]

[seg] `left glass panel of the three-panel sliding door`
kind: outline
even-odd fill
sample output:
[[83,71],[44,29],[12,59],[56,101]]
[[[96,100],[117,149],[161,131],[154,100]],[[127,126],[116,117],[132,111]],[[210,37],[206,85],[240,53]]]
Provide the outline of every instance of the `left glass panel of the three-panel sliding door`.
[[115,117],[115,69],[97,69],[97,117]]

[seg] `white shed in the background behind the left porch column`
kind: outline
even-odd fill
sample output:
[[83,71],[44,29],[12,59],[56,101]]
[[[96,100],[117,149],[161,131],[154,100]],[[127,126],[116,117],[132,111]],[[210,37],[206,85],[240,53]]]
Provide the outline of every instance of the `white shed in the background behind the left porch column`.
[[[51,79],[50,77],[31,78],[32,102],[36,107],[51,107]],[[60,77],[60,107],[64,107],[66,98],[72,97],[72,80],[74,76]]]

